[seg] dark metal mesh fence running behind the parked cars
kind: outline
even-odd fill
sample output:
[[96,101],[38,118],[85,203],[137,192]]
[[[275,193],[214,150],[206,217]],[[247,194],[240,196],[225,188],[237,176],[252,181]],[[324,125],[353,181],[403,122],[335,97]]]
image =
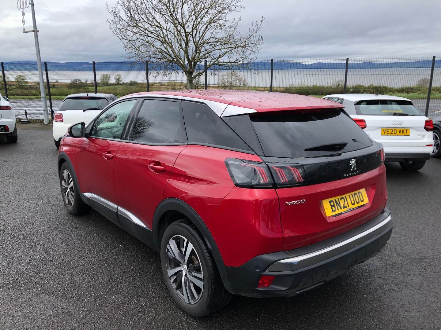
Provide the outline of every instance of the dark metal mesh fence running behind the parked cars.
[[[147,90],[201,89],[205,84],[209,89],[272,89],[317,97],[344,92],[396,95],[411,99],[424,112],[432,60],[419,57],[254,61],[210,67],[206,80],[204,63],[200,63],[195,68],[195,74],[200,75],[192,83],[182,69],[174,66],[175,70],[164,71],[164,65],[152,62],[148,70],[145,62],[96,62],[95,71],[92,62],[47,62],[47,76],[55,112],[64,97],[73,93],[96,90],[120,97]],[[4,72],[5,82],[0,75],[0,91],[9,97],[17,117],[41,118],[36,62],[4,62]],[[46,76],[45,88],[49,95]],[[441,60],[435,61],[429,103],[429,116],[438,114],[441,115]]]

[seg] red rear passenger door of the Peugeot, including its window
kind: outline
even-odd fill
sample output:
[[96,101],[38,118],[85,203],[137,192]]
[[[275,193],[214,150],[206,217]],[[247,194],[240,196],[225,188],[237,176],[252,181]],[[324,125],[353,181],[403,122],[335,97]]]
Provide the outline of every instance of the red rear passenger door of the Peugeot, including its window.
[[176,158],[187,147],[181,103],[145,99],[127,137],[115,158],[116,199],[123,216],[151,229]]

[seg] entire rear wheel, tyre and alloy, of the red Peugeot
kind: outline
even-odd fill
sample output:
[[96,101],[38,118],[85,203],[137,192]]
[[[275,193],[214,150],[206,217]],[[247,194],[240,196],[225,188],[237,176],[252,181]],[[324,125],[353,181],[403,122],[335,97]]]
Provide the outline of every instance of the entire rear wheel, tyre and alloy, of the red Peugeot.
[[189,315],[202,317],[216,312],[231,299],[212,253],[188,219],[176,221],[165,230],[161,267],[173,299]]

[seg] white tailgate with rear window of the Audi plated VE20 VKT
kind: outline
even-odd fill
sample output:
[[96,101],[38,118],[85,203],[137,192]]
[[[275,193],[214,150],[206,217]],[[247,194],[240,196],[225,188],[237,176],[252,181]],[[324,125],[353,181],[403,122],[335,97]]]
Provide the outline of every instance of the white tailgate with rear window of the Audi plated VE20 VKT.
[[355,110],[366,121],[366,134],[385,147],[419,147],[429,134],[427,118],[410,101],[364,100],[355,103]]

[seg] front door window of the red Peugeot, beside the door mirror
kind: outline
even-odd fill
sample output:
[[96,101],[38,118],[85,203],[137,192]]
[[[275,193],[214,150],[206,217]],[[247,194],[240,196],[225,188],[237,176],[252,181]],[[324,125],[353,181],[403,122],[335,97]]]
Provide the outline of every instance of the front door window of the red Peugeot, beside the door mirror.
[[108,108],[93,122],[90,136],[120,139],[135,102],[136,100],[124,101]]

